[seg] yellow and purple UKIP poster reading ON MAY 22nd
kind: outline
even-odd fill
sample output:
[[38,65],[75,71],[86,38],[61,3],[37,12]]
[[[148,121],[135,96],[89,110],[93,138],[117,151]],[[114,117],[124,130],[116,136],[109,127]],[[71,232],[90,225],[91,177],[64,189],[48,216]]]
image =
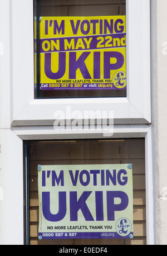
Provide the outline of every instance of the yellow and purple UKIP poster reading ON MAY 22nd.
[[41,17],[41,90],[126,89],[125,17]]

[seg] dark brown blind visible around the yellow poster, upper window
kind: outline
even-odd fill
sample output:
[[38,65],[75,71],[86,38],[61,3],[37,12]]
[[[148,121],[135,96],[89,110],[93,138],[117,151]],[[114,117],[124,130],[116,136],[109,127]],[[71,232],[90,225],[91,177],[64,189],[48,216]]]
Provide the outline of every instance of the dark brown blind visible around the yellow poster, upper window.
[[[118,16],[126,15],[126,0],[36,0],[36,20],[49,16]],[[37,4],[38,3],[38,4]],[[40,22],[35,25],[35,97],[36,98],[78,98],[78,97],[126,97],[126,89],[40,89]],[[37,56],[36,56],[37,53]],[[111,75],[112,77],[112,75]],[[42,82],[44,83],[44,82]],[[69,86],[69,84],[68,84]]]

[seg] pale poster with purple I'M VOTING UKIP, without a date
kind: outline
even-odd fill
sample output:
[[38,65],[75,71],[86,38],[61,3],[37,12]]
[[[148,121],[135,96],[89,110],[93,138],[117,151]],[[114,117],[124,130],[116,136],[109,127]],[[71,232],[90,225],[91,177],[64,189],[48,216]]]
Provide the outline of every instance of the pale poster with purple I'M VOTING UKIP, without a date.
[[133,238],[131,164],[38,165],[39,239]]

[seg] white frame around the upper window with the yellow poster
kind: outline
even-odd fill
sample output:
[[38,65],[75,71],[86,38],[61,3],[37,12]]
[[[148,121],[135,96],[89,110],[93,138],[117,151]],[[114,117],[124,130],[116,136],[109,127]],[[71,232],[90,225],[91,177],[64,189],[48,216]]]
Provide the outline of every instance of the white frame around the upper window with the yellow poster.
[[126,0],[127,97],[73,99],[34,99],[33,0],[11,2],[13,126],[52,125],[56,110],[95,111],[97,105],[114,111],[115,124],[151,122],[150,0]]

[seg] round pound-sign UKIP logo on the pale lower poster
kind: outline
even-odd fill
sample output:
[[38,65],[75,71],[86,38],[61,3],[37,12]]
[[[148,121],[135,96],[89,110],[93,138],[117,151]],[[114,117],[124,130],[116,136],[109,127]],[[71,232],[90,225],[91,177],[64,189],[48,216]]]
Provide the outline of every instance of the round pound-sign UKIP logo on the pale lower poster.
[[115,229],[120,236],[127,236],[131,232],[131,222],[126,218],[121,218],[117,220]]

